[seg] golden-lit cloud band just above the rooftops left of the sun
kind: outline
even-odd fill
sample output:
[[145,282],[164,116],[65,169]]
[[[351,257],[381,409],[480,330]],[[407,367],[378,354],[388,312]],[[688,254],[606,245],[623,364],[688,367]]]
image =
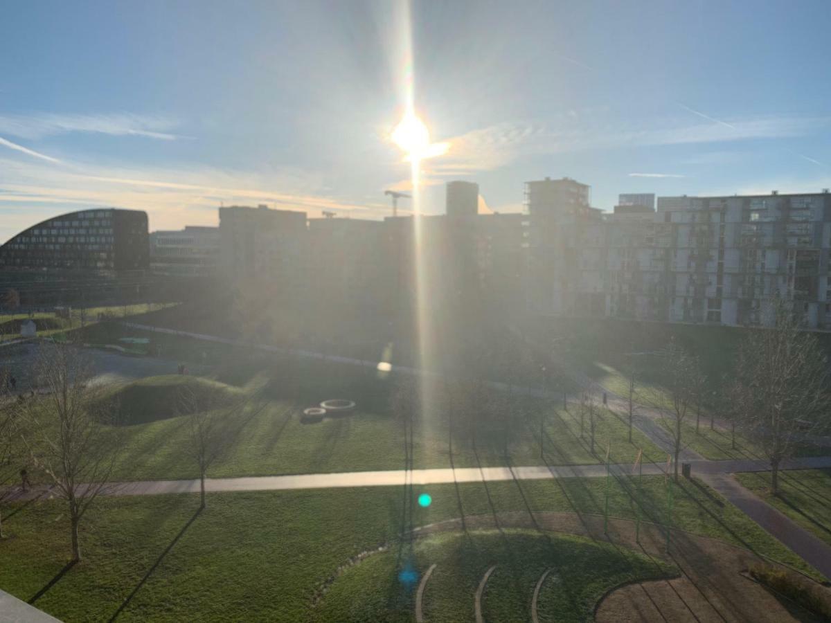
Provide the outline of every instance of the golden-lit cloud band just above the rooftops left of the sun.
[[[145,210],[150,228],[179,228],[184,223],[215,224],[216,208],[268,204],[317,217],[322,210],[343,216],[381,217],[382,201],[358,204],[328,194],[319,174],[298,169],[257,172],[188,164],[165,169],[99,165],[49,166],[22,159],[0,159],[0,206],[20,206],[37,222],[73,206],[118,206]],[[0,208],[6,213],[7,208]],[[0,219],[0,242],[17,233],[15,223]]]

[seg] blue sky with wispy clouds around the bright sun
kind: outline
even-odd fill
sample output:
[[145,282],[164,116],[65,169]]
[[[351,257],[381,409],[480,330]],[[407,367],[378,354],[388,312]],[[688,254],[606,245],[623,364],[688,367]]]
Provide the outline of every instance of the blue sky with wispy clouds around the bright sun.
[[0,238],[90,205],[150,228],[216,208],[389,213],[405,105],[423,164],[491,209],[568,175],[618,193],[831,186],[827,2],[10,2],[0,19]]

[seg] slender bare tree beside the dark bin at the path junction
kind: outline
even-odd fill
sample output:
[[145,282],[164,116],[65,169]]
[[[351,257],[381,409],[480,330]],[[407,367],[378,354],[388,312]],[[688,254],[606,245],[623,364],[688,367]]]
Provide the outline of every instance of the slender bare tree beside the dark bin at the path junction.
[[675,341],[670,341],[660,354],[661,385],[664,390],[647,391],[643,400],[659,415],[659,423],[672,439],[675,459],[675,480],[678,481],[678,461],[686,439],[686,419],[696,405],[697,388],[701,385],[701,370],[697,357],[692,356]]

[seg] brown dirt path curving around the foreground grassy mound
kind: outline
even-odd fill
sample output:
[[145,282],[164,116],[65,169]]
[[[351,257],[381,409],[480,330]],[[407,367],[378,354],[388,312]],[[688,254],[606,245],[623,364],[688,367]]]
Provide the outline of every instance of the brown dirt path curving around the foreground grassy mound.
[[[820,621],[804,611],[789,610],[764,587],[744,575],[750,565],[763,558],[716,539],[673,530],[667,553],[665,533],[654,524],[641,524],[641,542],[638,543],[634,522],[623,519],[610,518],[608,535],[605,535],[602,517],[594,515],[534,513],[532,518],[529,513],[500,513],[498,518],[502,528],[523,527],[591,537],[673,562],[681,570],[681,576],[671,580],[637,582],[610,592],[597,606],[596,621],[601,623]],[[493,515],[466,517],[465,522],[469,529],[497,527]],[[422,527],[416,534],[423,536],[461,528],[460,519],[451,519]]]

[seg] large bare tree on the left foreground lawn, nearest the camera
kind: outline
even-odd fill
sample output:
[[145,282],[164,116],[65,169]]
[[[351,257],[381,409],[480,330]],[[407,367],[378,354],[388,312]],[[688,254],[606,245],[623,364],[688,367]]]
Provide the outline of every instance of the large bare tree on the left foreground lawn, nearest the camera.
[[91,366],[72,346],[42,343],[37,358],[42,399],[17,402],[27,427],[32,463],[66,500],[71,524],[72,560],[81,560],[78,527],[110,482],[122,436],[116,409],[100,385],[91,384]]

